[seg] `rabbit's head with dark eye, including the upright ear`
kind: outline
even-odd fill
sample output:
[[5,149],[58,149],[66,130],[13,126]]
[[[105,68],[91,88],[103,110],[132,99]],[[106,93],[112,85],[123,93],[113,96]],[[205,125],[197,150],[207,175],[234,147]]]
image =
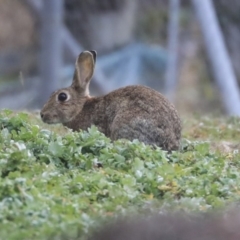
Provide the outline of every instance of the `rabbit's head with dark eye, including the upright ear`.
[[41,118],[46,123],[66,123],[81,110],[89,96],[89,83],[94,72],[97,53],[82,52],[75,64],[72,85],[55,91],[43,106]]

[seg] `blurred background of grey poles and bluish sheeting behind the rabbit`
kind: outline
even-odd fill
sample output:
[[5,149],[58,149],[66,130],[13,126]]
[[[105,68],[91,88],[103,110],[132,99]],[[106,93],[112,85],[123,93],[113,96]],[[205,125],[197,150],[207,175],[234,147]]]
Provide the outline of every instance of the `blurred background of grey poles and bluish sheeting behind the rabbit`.
[[240,115],[239,12],[237,0],[0,0],[0,109],[41,108],[94,49],[92,95],[142,84],[182,115]]

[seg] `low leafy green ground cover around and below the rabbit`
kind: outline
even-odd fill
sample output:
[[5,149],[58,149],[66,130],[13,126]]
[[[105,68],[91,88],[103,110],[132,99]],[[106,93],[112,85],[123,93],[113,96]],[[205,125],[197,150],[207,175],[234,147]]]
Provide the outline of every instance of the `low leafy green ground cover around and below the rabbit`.
[[85,239],[119,215],[240,200],[239,118],[183,120],[179,152],[0,112],[2,239]]

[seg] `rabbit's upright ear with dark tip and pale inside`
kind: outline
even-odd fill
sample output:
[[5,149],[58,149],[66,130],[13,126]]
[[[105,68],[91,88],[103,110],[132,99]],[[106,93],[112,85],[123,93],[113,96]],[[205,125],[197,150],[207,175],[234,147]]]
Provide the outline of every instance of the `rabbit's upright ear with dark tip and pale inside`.
[[84,51],[80,53],[75,63],[72,87],[84,95],[89,94],[89,82],[94,72],[96,55],[95,51]]

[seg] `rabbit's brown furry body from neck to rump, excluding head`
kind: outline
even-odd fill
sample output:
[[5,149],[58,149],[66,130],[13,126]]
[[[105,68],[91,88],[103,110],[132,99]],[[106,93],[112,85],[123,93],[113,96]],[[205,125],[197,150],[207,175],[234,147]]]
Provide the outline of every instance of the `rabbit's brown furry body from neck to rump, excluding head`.
[[165,150],[177,150],[181,122],[174,106],[157,91],[127,86],[103,97],[90,98],[66,126],[86,130],[91,125],[112,140],[138,139]]

